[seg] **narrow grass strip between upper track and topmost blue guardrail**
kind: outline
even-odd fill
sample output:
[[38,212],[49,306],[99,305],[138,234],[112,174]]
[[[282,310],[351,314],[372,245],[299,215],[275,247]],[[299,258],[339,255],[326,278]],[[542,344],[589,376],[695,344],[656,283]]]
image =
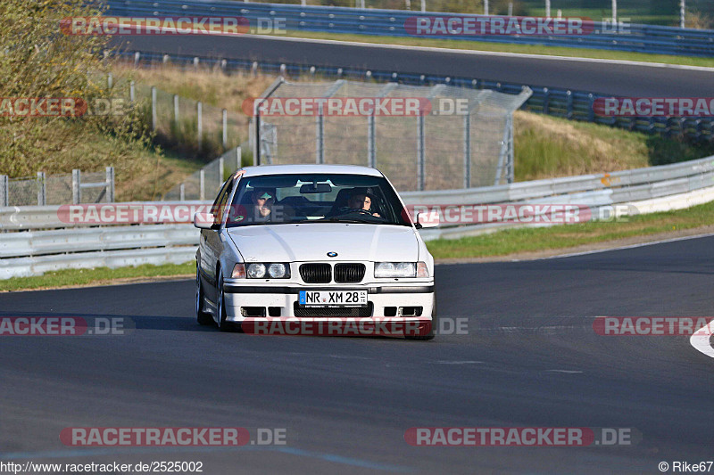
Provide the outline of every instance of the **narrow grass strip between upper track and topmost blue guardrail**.
[[461,49],[486,51],[495,53],[522,53],[570,58],[592,58],[619,61],[659,62],[664,64],[680,64],[684,66],[700,66],[714,68],[714,58],[699,58],[694,56],[674,56],[669,54],[630,53],[627,51],[609,51],[587,48],[569,48],[563,46],[544,45],[511,45],[503,43],[488,43],[485,41],[434,39],[419,37],[373,37],[370,35],[347,35],[336,33],[320,33],[312,31],[288,30],[282,37],[298,37],[312,39],[331,39],[336,41],[374,43],[378,45],[427,46],[433,48]]

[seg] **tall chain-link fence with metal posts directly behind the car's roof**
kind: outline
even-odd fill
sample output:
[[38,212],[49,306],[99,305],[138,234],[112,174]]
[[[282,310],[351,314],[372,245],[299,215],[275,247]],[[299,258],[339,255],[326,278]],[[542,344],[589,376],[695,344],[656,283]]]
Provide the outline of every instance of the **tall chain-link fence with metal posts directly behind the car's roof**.
[[280,81],[254,104],[251,146],[258,164],[379,168],[400,191],[511,183],[513,111],[531,94]]

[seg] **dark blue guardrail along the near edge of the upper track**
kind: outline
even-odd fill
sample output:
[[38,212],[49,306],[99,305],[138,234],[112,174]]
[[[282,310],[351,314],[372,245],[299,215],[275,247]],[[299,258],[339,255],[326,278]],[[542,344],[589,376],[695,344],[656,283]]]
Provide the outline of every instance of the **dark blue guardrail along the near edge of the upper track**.
[[523,87],[533,90],[530,99],[521,107],[522,110],[532,111],[560,117],[564,119],[582,120],[610,127],[621,127],[636,130],[646,134],[659,134],[664,136],[686,136],[696,141],[714,140],[714,121],[711,118],[666,118],[666,117],[602,117],[594,112],[594,102],[600,97],[609,97],[605,94],[574,91],[569,89],[549,88],[538,85],[521,85],[516,83],[492,81],[481,78],[458,78],[440,75],[426,75],[414,73],[396,73],[386,70],[368,70],[360,68],[338,68],[331,66],[313,66],[309,64],[278,63],[253,60],[224,60],[220,58],[203,56],[181,56],[161,53],[129,52],[122,51],[117,54],[131,61],[135,65],[153,65],[171,61],[175,64],[185,64],[195,67],[203,61],[211,66],[220,66],[225,71],[252,71],[259,70],[267,74],[288,75],[292,77],[315,76],[322,78],[345,78],[355,80],[377,80],[380,82],[399,82],[415,86],[430,86],[446,84],[450,86],[468,87],[473,89],[492,89],[499,93],[520,94]]

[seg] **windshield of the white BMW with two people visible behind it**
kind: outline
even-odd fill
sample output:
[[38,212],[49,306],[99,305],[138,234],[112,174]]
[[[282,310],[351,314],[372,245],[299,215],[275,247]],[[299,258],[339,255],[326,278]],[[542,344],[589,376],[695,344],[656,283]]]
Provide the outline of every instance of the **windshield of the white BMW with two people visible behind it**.
[[228,227],[286,223],[410,225],[381,176],[291,174],[241,178]]

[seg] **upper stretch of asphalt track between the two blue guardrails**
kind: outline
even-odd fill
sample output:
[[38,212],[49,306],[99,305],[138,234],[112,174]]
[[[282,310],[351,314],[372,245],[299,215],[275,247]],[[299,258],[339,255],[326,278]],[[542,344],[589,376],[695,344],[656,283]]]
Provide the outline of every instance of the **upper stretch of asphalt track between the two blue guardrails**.
[[276,37],[121,37],[129,51],[363,68],[560,87],[628,97],[710,97],[714,71]]

